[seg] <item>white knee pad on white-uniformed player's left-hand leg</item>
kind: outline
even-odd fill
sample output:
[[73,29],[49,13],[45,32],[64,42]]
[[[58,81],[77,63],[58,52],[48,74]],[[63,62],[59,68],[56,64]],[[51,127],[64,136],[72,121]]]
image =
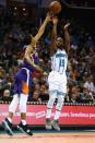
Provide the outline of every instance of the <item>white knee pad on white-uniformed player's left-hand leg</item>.
[[57,92],[50,92],[47,108],[52,108],[52,105],[55,104],[56,98],[57,98]]

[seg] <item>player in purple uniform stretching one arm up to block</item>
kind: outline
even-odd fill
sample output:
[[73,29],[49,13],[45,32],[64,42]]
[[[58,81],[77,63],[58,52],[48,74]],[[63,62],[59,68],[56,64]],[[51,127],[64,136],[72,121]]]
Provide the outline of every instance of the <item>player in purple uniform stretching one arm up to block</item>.
[[26,124],[26,103],[28,98],[28,84],[32,76],[31,73],[34,70],[43,72],[43,70],[36,64],[36,61],[34,61],[35,58],[33,58],[33,56],[35,55],[36,43],[44,34],[45,27],[49,21],[50,15],[48,14],[43,25],[40,26],[37,35],[35,37],[29,36],[27,37],[28,45],[26,46],[25,49],[23,63],[21,65],[21,69],[15,74],[15,85],[14,85],[15,94],[9,106],[9,116],[2,121],[2,126],[9,135],[13,135],[12,118],[19,104],[21,112],[21,123],[17,126],[17,129],[28,135],[33,135],[33,133],[31,132],[31,130]]

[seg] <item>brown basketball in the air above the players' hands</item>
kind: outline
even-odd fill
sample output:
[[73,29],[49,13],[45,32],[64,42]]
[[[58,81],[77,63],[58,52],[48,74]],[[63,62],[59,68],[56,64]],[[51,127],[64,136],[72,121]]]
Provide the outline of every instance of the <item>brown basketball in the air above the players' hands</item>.
[[49,12],[52,12],[54,14],[59,14],[61,12],[61,3],[59,1],[52,1],[49,4]]

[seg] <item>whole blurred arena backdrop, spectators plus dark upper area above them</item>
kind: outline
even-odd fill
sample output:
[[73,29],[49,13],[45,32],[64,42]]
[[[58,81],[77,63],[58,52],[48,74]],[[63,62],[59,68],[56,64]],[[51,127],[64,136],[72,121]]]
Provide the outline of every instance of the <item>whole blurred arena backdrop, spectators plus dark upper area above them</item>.
[[[13,96],[14,74],[22,63],[24,37],[35,35],[52,0],[0,0],[0,102]],[[70,55],[68,94],[66,103],[95,103],[95,0],[60,0],[58,35],[63,36],[63,25],[70,22]],[[59,31],[60,29],[60,31]],[[33,74],[28,102],[48,100],[47,78],[50,71],[50,32],[48,24],[37,44],[39,64],[44,75]]]

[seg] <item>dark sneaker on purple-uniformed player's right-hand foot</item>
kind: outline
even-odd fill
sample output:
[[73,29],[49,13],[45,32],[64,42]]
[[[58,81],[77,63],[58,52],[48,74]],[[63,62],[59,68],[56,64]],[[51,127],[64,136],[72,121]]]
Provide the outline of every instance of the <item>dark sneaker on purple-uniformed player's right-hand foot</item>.
[[33,135],[32,131],[28,129],[27,124],[22,124],[22,122],[17,126],[17,129],[23,132],[26,133],[28,135]]

